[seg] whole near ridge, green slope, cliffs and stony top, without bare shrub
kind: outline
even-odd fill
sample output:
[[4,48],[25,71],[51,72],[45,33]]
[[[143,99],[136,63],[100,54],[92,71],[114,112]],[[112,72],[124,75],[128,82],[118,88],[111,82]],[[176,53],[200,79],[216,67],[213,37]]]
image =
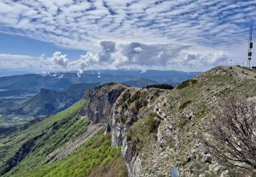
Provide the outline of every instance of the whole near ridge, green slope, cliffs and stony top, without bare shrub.
[[0,173],[170,176],[176,167],[181,176],[252,174],[218,161],[199,134],[223,97],[255,97],[255,83],[243,69],[221,66],[172,90],[113,82],[88,89],[67,110],[2,134]]

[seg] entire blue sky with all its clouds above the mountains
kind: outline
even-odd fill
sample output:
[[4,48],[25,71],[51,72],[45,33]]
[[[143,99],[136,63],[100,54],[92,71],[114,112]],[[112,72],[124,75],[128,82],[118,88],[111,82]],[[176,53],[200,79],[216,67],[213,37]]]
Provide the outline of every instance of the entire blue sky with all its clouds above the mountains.
[[0,69],[246,66],[255,20],[256,1],[0,0]]

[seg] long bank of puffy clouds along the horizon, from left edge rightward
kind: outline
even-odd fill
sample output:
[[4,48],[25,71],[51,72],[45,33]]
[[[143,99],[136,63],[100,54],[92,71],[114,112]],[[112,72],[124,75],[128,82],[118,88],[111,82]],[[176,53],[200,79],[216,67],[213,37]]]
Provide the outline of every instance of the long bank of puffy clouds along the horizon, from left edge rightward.
[[[140,44],[101,42],[101,50],[87,51],[79,59],[68,60],[66,54],[55,52],[53,57],[43,55],[35,59],[9,60],[0,67],[33,68],[38,71],[77,71],[81,76],[89,69],[147,69],[198,71],[216,65],[227,64],[227,56],[221,51],[191,52],[192,46],[177,44]],[[137,50],[134,50],[137,48]],[[139,52],[138,52],[139,50]],[[199,50],[199,48],[197,48]],[[202,49],[203,51],[203,49]],[[98,74],[100,76],[100,74]]]

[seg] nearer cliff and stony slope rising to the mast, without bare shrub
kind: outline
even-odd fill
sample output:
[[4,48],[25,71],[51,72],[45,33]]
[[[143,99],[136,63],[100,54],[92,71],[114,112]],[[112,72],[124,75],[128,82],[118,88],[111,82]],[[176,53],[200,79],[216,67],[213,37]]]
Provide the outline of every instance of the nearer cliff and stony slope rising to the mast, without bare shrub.
[[[218,163],[198,134],[223,97],[255,97],[256,78],[238,69],[216,67],[172,91],[128,88],[113,104],[112,145],[121,146],[129,176],[229,176],[238,172]],[[250,88],[249,90],[247,88]]]

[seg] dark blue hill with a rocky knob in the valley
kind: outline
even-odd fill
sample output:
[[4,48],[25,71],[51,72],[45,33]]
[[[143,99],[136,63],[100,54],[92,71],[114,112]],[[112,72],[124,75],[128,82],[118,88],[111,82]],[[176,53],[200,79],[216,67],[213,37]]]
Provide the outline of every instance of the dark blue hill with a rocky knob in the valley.
[[71,84],[63,91],[41,88],[40,93],[27,101],[10,108],[8,112],[21,115],[43,116],[65,110],[83,97],[87,88],[94,88],[99,83]]

